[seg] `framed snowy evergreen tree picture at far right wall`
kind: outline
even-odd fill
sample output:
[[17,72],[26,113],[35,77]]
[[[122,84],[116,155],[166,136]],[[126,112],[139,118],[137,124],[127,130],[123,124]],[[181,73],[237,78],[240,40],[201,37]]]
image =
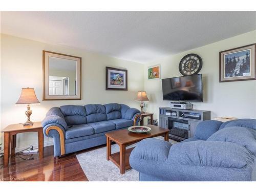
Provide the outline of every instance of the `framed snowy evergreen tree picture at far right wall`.
[[220,82],[256,79],[255,45],[220,52]]

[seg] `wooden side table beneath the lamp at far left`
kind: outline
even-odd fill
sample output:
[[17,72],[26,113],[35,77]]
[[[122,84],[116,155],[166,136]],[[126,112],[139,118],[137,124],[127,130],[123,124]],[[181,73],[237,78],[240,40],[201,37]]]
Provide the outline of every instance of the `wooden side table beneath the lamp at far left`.
[[9,164],[9,155],[15,155],[16,135],[25,132],[37,132],[39,159],[44,157],[44,133],[41,122],[34,122],[33,125],[23,126],[23,124],[10,124],[4,130],[4,167]]

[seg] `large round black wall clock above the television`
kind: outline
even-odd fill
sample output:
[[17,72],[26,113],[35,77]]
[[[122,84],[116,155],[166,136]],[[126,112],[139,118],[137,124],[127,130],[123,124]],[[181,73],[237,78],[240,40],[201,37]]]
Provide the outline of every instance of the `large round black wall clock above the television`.
[[202,65],[202,58],[197,54],[190,53],[180,60],[179,70],[184,76],[195,75],[202,69]]

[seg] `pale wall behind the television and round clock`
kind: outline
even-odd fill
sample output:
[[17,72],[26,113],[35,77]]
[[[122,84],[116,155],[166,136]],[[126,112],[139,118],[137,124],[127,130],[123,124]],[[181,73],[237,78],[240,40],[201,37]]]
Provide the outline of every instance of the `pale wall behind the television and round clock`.
[[144,89],[150,102],[146,103],[146,111],[154,112],[154,118],[157,119],[158,108],[170,104],[169,101],[163,101],[161,79],[147,79],[147,67],[160,63],[161,78],[182,76],[179,73],[181,58],[188,53],[196,53],[203,59],[200,73],[203,76],[204,102],[194,102],[194,109],[210,110],[212,119],[216,116],[256,118],[255,80],[219,82],[219,52],[255,42],[256,31],[251,31],[147,63],[144,66]]

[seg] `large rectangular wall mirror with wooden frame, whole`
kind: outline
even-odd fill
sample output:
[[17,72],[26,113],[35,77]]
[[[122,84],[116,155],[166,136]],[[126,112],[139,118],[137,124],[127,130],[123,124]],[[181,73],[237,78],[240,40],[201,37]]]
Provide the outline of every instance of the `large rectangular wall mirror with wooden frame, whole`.
[[81,99],[81,57],[42,51],[42,100]]

